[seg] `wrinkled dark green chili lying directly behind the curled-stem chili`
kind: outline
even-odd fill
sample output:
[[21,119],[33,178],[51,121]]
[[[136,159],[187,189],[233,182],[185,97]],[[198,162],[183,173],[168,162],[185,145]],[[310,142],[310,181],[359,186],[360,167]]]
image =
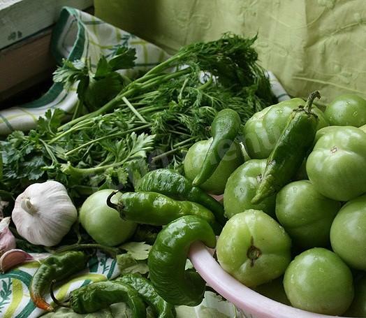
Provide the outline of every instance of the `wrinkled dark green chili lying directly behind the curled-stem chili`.
[[180,200],[199,203],[214,214],[219,224],[226,223],[223,205],[199,187],[193,187],[191,181],[173,170],[150,171],[141,178],[136,191],[153,191]]

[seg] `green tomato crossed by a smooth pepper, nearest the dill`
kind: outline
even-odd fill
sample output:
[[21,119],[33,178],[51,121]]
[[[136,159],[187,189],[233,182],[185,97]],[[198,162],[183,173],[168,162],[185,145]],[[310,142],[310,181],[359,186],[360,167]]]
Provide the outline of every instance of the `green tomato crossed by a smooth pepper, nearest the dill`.
[[[198,141],[186,153],[186,157],[184,158],[184,173],[189,180],[196,178],[196,175],[200,172],[211,143],[212,138]],[[200,188],[211,194],[223,194],[226,181],[230,177],[230,174],[243,162],[244,157],[240,145],[236,142],[232,143],[219,166],[212,173],[212,176],[200,185]]]

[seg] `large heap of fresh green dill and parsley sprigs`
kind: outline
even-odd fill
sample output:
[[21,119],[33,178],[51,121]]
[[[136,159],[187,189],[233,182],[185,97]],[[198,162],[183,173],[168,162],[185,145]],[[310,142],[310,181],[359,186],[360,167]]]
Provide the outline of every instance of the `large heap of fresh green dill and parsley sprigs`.
[[224,34],[193,43],[135,79],[119,72],[133,68],[131,48],[117,48],[96,66],[64,61],[54,82],[77,87],[78,106],[71,117],[49,110],[36,129],[1,141],[0,196],[53,179],[76,199],[98,189],[133,189],[152,168],[180,168],[186,150],[210,137],[219,110],[233,108],[244,124],[274,103],[255,40]]

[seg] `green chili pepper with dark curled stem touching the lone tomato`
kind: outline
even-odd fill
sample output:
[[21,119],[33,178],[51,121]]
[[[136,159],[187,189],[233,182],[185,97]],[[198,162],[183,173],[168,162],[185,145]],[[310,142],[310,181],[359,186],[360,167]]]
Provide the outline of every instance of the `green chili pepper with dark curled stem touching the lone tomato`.
[[166,225],[183,215],[197,215],[214,225],[214,215],[204,206],[190,201],[175,201],[156,192],[125,192],[117,203],[107,198],[107,204],[119,212],[122,219],[151,225]]

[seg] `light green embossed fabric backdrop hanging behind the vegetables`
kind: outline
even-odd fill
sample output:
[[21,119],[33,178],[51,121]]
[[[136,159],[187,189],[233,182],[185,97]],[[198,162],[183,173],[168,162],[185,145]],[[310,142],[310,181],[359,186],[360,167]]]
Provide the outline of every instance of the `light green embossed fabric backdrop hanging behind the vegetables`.
[[94,0],[96,15],[173,52],[225,31],[258,32],[262,66],[291,96],[366,98],[365,0]]

